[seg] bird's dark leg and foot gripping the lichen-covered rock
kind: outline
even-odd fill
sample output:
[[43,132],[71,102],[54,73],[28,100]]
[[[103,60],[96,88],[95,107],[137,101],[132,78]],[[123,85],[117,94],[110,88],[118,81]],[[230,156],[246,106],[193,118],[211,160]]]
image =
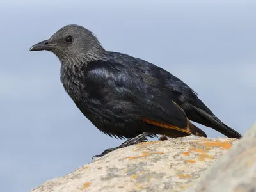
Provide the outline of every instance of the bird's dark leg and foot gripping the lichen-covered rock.
[[105,156],[106,154],[108,154],[109,152],[113,151],[113,150],[116,150],[118,148],[124,148],[124,147],[127,147],[127,146],[130,146],[130,145],[135,145],[135,144],[138,144],[138,143],[141,143],[141,142],[147,142],[148,139],[146,138],[146,136],[149,136],[150,133],[148,132],[143,132],[141,134],[139,134],[138,136],[134,137],[134,138],[131,138],[127,141],[125,141],[124,143],[122,143],[121,145],[119,145],[118,147],[116,148],[108,148],[106,150],[104,150],[104,152],[102,152],[102,154],[100,155],[95,155],[92,157],[92,161],[94,159],[94,157],[102,157],[102,156]]

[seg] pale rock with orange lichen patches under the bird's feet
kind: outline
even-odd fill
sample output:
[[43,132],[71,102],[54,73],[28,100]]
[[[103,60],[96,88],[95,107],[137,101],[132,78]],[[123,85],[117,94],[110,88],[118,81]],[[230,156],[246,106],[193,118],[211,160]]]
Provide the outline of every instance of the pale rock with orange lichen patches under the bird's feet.
[[32,191],[184,191],[236,141],[188,136],[140,143],[115,150]]

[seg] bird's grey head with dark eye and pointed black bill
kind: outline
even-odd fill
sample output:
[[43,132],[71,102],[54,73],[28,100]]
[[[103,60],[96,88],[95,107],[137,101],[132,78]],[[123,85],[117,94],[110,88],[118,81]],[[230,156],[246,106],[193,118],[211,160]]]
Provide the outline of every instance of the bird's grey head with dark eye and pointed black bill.
[[91,31],[75,24],[64,26],[48,40],[33,45],[29,51],[51,51],[68,65],[99,59],[104,54],[96,36]]

